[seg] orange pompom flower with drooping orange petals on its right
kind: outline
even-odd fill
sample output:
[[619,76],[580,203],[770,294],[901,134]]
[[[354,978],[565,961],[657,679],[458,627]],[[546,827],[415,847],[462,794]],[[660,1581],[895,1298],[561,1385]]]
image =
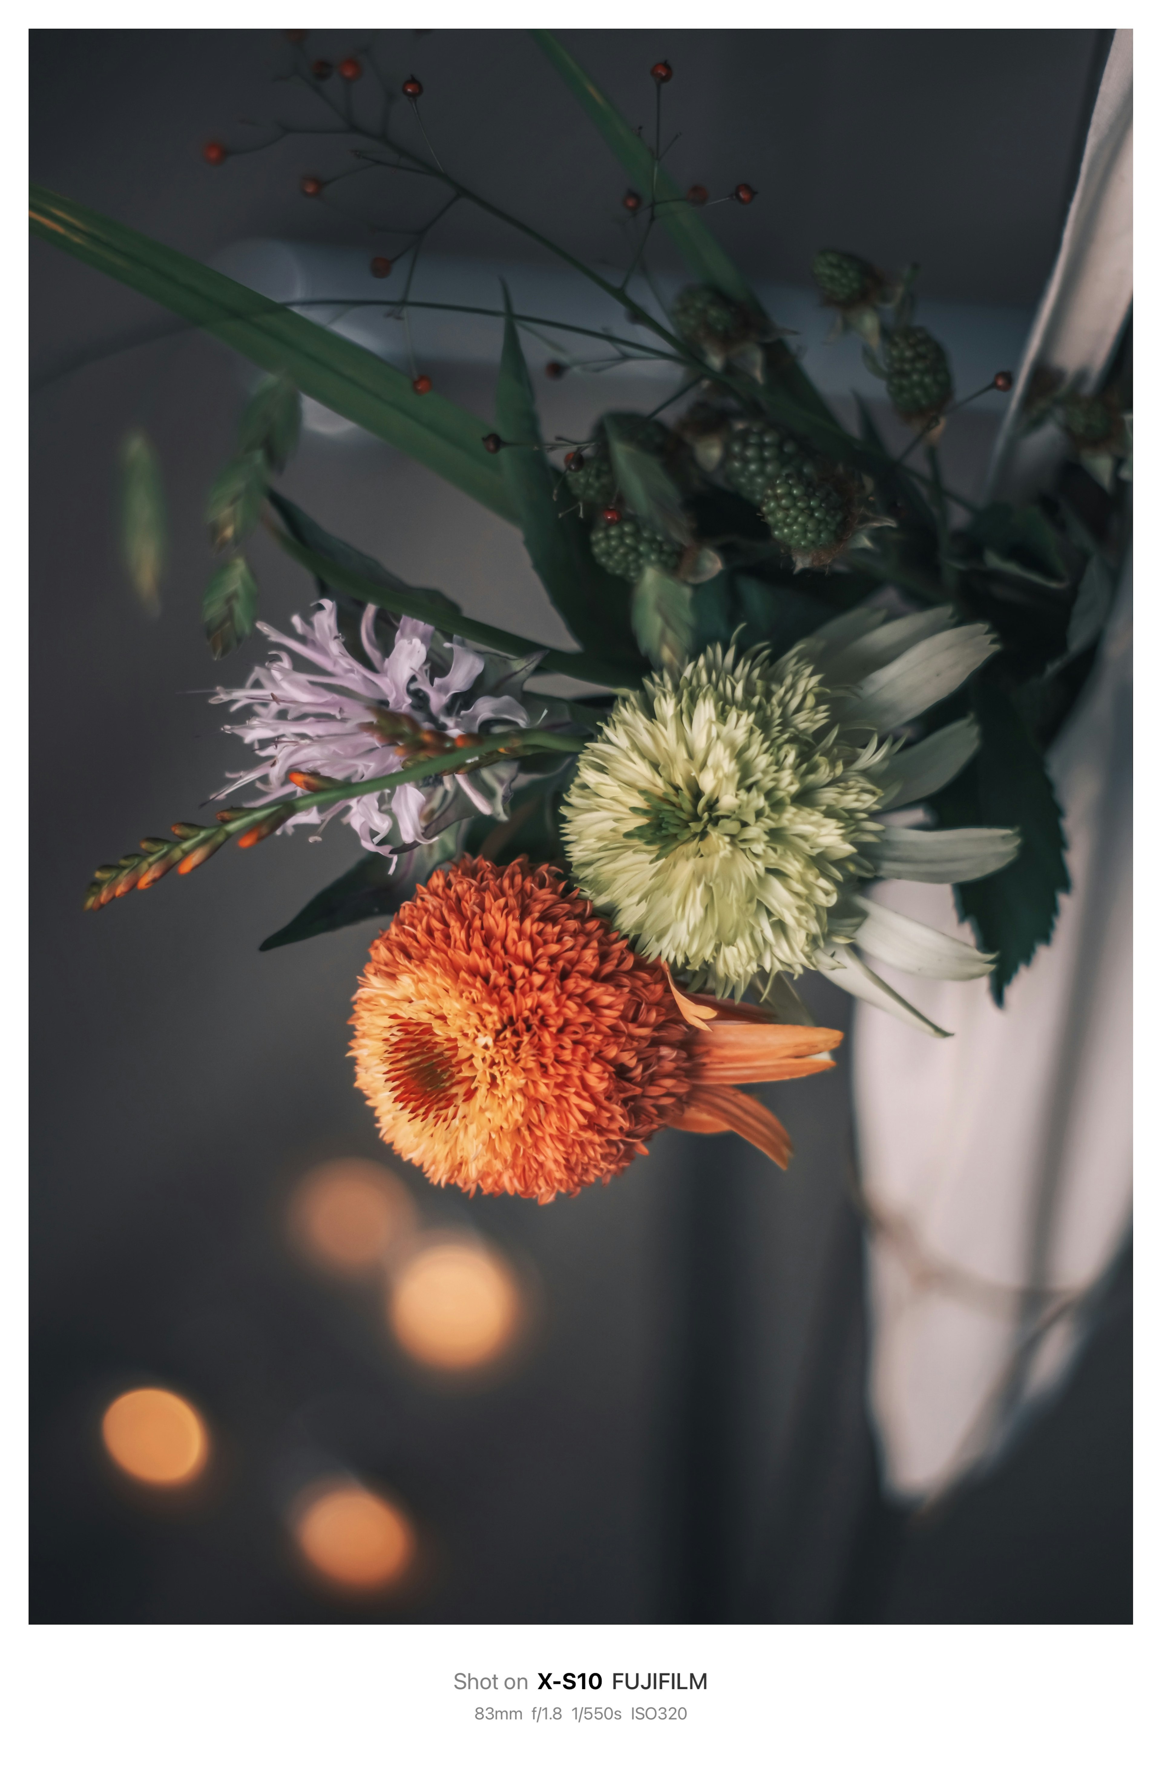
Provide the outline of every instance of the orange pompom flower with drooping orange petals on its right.
[[434,1183],[547,1203],[625,1171],[662,1127],[791,1143],[738,1084],[832,1063],[835,1030],[680,994],[556,871],[464,858],[371,947],[357,1084]]

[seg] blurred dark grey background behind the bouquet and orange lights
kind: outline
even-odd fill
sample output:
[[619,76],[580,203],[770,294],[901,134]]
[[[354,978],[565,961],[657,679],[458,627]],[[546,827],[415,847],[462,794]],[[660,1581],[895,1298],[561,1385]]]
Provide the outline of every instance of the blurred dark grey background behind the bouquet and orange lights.
[[[715,210],[752,275],[804,283],[814,249],[839,244],[918,258],[932,297],[1037,300],[1104,34],[563,35],[634,122],[652,115],[650,62],[669,57],[678,178],[761,191],[754,210]],[[526,37],[381,41],[424,81],[447,164],[579,254],[618,258],[625,180]],[[318,34],[316,53],[353,44]],[[242,140],[238,117],[286,113],[270,85],[283,64],[279,34],[34,32],[32,175],[200,258],[254,235],[358,242],[353,198],[344,214],[346,196],[298,194],[320,154],[200,157],[208,136]],[[406,223],[410,200],[385,189],[374,212]],[[530,251],[463,210],[434,245]],[[411,1605],[355,1618],[844,1616],[876,1498],[842,1054],[834,1075],[772,1088],[798,1148],[786,1176],[740,1143],[682,1136],[611,1189],[542,1210],[411,1173],[431,1222],[470,1222],[535,1268],[544,1317],[493,1388],[410,1374],[374,1296],[320,1284],[281,1236],[311,1162],[378,1151],[346,1061],[373,927],[258,954],[353,860],[350,834],[228,849],[79,913],[97,862],[196,818],[238,765],[205,691],[260,652],[215,666],[198,620],[201,505],[233,445],[237,362],[171,337],[78,367],[164,321],[39,242],[32,314],[34,1616],[350,1621],[297,1579],[281,1521],[300,1469],[325,1459],[396,1485],[438,1542],[440,1574]],[[489,415],[487,373],[447,369],[440,387]],[[595,392],[546,389],[546,429],[586,422]],[[173,510],[155,623],[115,544],[115,456],[140,422]],[[991,426],[966,420],[962,482]],[[517,535],[390,449],[307,436],[286,489],[404,577],[558,638]],[[253,558],[263,616],[284,625],[309,585],[263,540]],[[812,998],[842,1023],[841,994]],[[140,1377],[194,1395],[226,1443],[219,1485],[178,1515],[127,1505],[95,1453],[102,1402]],[[955,1591],[954,1572],[934,1574]]]

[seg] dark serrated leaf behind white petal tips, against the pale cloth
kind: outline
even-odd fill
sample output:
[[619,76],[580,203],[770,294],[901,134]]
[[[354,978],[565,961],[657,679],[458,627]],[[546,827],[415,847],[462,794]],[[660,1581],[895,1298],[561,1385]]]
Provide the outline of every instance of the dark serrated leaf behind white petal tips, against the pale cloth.
[[1058,895],[1068,894],[1061,809],[1045,763],[1012,699],[989,680],[971,687],[980,724],[980,749],[964,772],[932,798],[943,828],[998,826],[1021,830],[1015,860],[992,876],[955,887],[957,911],[970,922],[980,950],[994,950],[992,998],[1047,945],[1058,918]]

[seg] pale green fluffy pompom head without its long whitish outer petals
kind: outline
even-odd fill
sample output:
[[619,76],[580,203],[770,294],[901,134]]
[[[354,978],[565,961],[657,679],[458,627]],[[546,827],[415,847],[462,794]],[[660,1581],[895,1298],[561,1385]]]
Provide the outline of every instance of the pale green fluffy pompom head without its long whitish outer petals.
[[722,994],[761,970],[802,973],[883,796],[881,743],[839,738],[804,648],[772,662],[721,646],[653,675],[583,752],[565,798],[581,888],[648,957]]

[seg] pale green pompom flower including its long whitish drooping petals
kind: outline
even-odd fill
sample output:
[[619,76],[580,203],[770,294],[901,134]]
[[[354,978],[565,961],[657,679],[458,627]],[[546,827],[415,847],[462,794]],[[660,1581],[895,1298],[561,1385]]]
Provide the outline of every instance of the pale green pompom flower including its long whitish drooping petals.
[[991,959],[860,895],[871,876],[964,881],[1008,864],[1008,828],[885,828],[964,766],[971,719],[899,751],[890,731],[992,652],[947,609],[885,623],[856,609],[784,657],[706,650],[625,696],[583,751],[563,804],[574,876],[646,957],[722,996],[826,970],[934,1030],[849,948],[970,978]]

